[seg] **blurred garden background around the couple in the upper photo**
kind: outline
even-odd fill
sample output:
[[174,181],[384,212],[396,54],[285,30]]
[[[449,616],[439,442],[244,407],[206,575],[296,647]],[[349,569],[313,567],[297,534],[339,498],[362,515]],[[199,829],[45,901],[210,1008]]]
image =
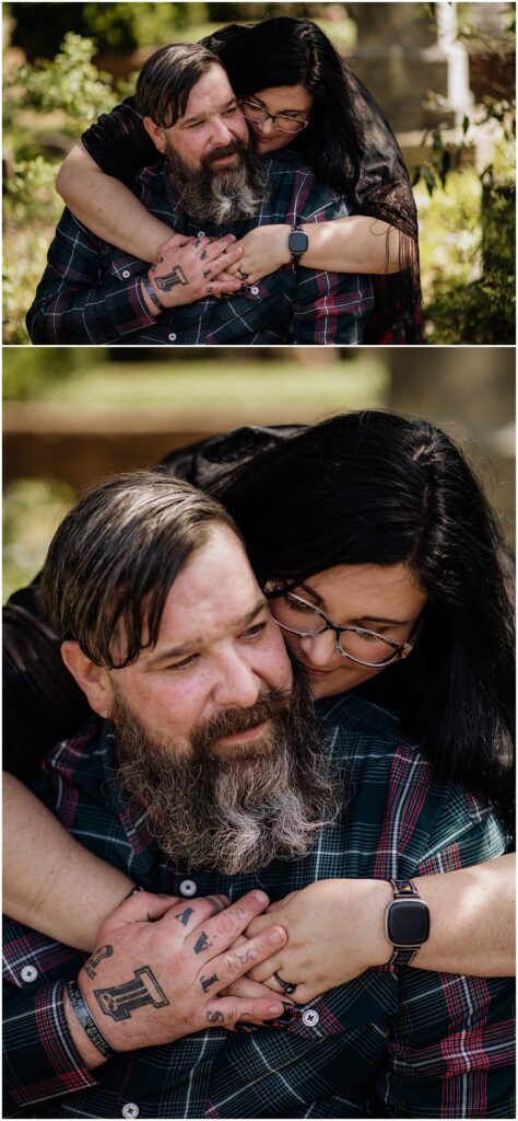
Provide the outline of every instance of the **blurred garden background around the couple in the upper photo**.
[[56,169],[158,46],[222,24],[315,19],[366,82],[407,160],[430,343],[515,341],[514,3],[3,3],[4,342],[62,203]]

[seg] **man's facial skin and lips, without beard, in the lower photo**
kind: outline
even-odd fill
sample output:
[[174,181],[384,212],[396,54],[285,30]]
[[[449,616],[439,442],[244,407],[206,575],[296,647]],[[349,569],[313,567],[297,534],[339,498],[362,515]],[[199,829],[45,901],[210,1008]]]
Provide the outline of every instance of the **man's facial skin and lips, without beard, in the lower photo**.
[[[251,710],[272,689],[290,691],[292,671],[279,628],[243,546],[215,524],[209,540],[177,576],[157,645],[112,670],[111,688],[147,733],[181,756],[224,714]],[[211,744],[223,759],[261,752],[270,722]]]

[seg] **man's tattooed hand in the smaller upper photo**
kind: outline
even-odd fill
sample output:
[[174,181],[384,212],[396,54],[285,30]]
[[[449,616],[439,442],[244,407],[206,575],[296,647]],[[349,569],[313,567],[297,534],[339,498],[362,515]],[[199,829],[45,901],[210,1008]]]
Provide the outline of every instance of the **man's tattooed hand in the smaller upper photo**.
[[[226,274],[236,265],[243,250],[234,234],[225,238],[186,238],[173,233],[164,241],[160,254],[151,266],[148,278],[164,307],[194,304],[207,296],[232,295],[242,287],[238,277]],[[142,288],[147,306],[157,314],[157,307]]]

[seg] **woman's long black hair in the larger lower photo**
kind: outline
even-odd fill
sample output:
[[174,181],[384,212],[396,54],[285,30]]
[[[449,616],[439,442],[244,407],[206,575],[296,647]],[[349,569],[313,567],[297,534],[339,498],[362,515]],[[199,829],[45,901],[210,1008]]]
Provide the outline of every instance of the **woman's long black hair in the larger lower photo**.
[[509,815],[511,566],[453,441],[424,420],[351,413],[302,430],[215,490],[263,583],[293,586],[339,564],[408,564],[428,599],[423,631],[370,693],[398,710],[440,777],[484,789]]

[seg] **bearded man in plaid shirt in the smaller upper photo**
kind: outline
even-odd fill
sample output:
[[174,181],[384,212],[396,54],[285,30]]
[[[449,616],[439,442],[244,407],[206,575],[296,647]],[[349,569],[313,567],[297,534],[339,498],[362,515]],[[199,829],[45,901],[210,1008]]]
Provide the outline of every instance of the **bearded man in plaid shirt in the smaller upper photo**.
[[239,259],[236,238],[254,226],[348,211],[292,152],[257,157],[216,55],[164,47],[145,63],[136,93],[162,158],[134,191],[176,233],[149,270],[65,211],[27,317],[32,342],[361,342],[368,277],[296,268],[302,253],[252,287],[225,272]]

